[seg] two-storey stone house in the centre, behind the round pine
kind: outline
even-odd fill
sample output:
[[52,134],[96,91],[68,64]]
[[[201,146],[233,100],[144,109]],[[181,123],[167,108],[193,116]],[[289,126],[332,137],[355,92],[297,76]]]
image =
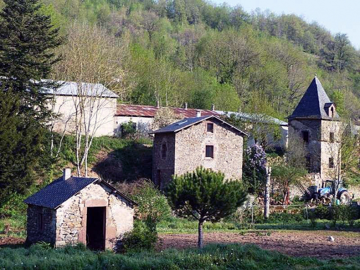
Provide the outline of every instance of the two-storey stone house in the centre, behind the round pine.
[[210,115],[184,118],[154,134],[152,180],[163,189],[172,175],[198,166],[222,171],[227,179],[241,179],[243,137],[246,133]]

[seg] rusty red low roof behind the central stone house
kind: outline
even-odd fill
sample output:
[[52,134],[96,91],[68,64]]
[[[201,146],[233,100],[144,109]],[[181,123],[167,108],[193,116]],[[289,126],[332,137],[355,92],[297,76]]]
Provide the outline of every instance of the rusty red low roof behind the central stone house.
[[[139,116],[139,117],[154,117],[156,112],[161,107],[147,106],[147,105],[128,105],[118,104],[115,116]],[[211,110],[198,110],[198,109],[183,109],[183,108],[170,108],[173,112],[182,118],[195,117],[196,112],[200,111],[202,116],[218,115],[215,111]]]

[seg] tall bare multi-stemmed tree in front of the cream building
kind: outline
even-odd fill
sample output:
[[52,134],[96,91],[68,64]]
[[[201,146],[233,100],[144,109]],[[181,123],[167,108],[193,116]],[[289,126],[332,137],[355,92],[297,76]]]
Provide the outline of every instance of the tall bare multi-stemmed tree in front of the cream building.
[[[99,128],[108,121],[104,111],[115,107],[108,88],[120,86],[123,76],[120,44],[103,29],[74,24],[62,48],[63,61],[56,67],[71,84],[77,174],[88,175],[88,154]],[[112,112],[113,113],[113,112]]]

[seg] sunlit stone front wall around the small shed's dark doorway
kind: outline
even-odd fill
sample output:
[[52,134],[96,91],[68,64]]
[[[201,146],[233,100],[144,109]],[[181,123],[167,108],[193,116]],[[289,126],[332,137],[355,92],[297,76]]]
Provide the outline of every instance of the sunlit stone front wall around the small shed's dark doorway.
[[56,247],[86,244],[87,207],[106,207],[106,248],[118,249],[133,228],[134,209],[102,184],[91,184],[64,202],[56,213]]

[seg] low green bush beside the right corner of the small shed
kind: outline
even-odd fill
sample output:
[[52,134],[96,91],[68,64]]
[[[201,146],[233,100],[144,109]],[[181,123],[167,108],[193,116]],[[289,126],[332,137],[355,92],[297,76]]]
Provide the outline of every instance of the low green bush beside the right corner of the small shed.
[[123,244],[126,251],[153,249],[156,241],[156,231],[151,230],[144,221],[136,220],[134,229],[125,233]]

